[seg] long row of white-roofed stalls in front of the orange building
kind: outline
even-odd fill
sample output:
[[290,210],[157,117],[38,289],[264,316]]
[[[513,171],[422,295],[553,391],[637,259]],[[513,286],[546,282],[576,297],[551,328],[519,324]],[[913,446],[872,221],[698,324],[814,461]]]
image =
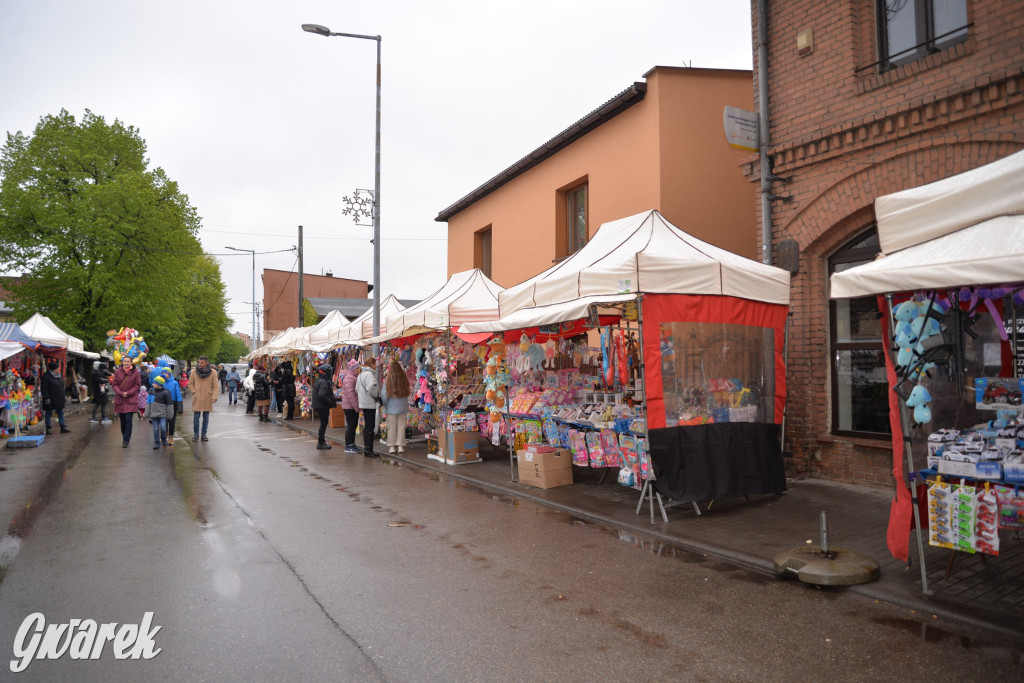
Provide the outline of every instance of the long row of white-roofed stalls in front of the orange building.
[[410,424],[437,439],[438,460],[474,462],[460,446],[487,441],[509,449],[521,476],[523,453],[561,450],[640,490],[653,516],[664,498],[784,490],[788,300],[787,271],[647,211],[603,224],[512,288],[478,269],[455,273],[409,308],[389,297],[376,337],[366,319],[338,314],[251,356],[341,372],[376,347],[379,368],[398,359],[409,375]]

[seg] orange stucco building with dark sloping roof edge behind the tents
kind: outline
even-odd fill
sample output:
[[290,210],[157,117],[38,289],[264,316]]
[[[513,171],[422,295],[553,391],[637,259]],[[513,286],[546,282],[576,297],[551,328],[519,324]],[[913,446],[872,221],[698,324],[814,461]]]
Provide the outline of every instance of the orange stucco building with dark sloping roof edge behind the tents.
[[579,249],[604,222],[657,209],[714,245],[757,254],[754,189],[737,170],[726,105],[753,109],[751,72],[655,67],[441,211],[449,274],[509,287]]

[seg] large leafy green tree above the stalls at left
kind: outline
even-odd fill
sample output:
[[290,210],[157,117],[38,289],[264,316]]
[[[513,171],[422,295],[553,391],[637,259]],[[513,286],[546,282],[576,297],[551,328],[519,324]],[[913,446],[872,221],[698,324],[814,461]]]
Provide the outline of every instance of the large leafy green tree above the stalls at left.
[[0,267],[24,273],[15,313],[43,311],[92,350],[130,327],[158,353],[215,351],[227,325],[219,269],[187,196],[145,154],[134,127],[88,110],[7,134]]

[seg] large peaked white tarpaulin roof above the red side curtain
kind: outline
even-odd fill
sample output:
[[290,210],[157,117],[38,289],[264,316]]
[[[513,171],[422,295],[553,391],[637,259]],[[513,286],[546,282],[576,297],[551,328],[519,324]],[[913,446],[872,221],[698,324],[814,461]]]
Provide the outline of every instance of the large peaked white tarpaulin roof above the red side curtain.
[[604,223],[583,249],[510,287],[499,297],[499,321],[460,332],[493,332],[578,319],[591,303],[637,294],[724,295],[790,303],[790,273],[679,229],[657,211]]

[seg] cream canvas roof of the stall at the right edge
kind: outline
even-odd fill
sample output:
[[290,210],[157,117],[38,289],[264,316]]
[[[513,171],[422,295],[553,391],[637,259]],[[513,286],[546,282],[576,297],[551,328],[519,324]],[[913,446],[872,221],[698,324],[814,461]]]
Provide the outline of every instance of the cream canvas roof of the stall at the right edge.
[[1024,280],[1022,188],[1024,152],[878,198],[883,253],[833,274],[831,298]]

